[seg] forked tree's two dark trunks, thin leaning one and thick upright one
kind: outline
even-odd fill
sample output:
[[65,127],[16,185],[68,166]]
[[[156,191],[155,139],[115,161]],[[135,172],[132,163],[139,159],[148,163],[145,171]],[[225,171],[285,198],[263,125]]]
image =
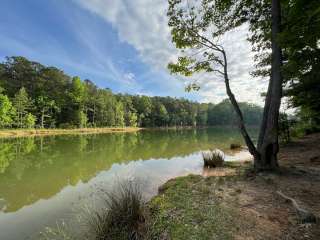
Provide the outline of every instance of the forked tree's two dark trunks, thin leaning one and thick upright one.
[[244,124],[243,115],[239,105],[230,89],[227,57],[224,50],[220,52],[224,58],[224,80],[227,94],[238,117],[238,124],[241,134],[248,146],[249,152],[254,157],[254,168],[256,171],[274,170],[278,168],[277,154],[278,144],[278,119],[282,97],[282,54],[281,48],[277,43],[277,36],[280,33],[280,0],[272,0],[272,63],[271,78],[269,81],[267,97],[265,100],[263,119],[260,128],[257,148],[253,144]]

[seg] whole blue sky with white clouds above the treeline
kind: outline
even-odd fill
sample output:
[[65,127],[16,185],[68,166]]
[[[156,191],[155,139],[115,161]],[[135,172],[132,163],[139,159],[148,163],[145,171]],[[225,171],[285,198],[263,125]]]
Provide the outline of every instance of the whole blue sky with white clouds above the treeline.
[[[213,74],[170,75],[178,51],[167,26],[167,0],[1,0],[0,61],[24,56],[90,79],[114,92],[217,103],[227,97]],[[247,26],[222,38],[231,88],[239,101],[262,105],[266,79],[250,76]],[[196,80],[200,91],[187,93]]]

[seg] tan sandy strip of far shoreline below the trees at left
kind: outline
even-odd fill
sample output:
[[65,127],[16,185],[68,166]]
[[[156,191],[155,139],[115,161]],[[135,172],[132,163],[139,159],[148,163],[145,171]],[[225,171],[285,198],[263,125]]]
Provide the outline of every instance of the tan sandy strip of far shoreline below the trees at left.
[[138,127],[107,127],[107,128],[78,128],[78,129],[9,129],[0,130],[1,138],[19,138],[35,136],[102,134],[102,133],[126,133],[138,132],[143,128]]

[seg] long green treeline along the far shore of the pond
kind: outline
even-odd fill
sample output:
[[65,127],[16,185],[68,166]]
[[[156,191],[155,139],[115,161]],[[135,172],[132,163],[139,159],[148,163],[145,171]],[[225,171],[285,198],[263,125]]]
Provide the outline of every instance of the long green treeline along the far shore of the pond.
[[[262,109],[241,103],[257,125]],[[171,97],[114,94],[62,70],[8,57],[0,64],[0,128],[171,127],[232,125],[228,100],[196,103]]]

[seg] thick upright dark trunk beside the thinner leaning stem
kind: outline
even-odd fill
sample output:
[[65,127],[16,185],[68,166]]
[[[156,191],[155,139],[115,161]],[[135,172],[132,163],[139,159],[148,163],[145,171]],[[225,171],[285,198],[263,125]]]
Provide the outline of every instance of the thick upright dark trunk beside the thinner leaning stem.
[[259,157],[255,159],[256,170],[272,170],[278,167],[278,118],[282,97],[282,54],[277,43],[280,33],[281,8],[280,0],[272,0],[272,62],[271,79],[264,106],[263,119],[258,139]]

